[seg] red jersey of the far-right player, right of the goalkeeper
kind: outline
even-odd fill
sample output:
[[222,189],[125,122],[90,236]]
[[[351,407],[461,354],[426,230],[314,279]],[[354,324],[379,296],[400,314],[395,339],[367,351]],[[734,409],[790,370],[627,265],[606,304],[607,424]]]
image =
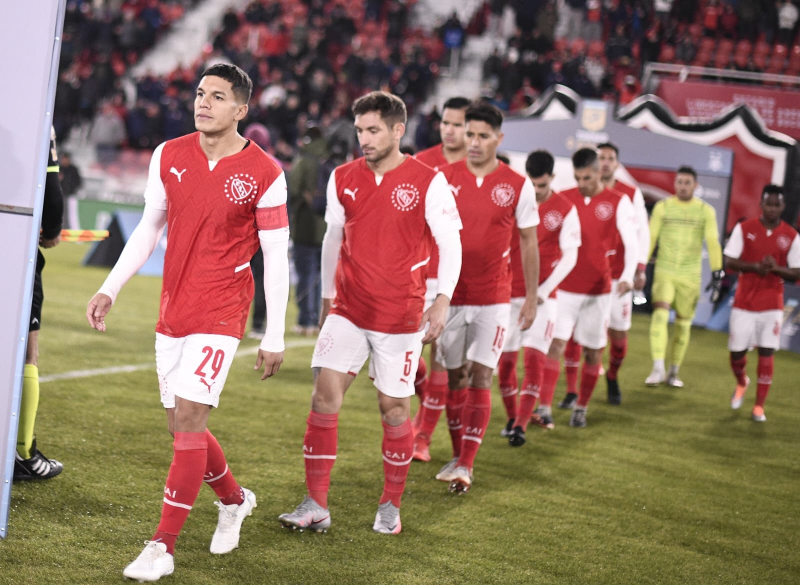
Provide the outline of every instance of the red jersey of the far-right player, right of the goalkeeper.
[[[749,219],[734,226],[724,254],[743,262],[761,262],[765,256],[772,256],[778,266],[800,268],[800,238],[786,222],[767,230],[760,219]],[[734,307],[744,311],[782,309],[783,278],[778,274],[742,272],[736,285]]]

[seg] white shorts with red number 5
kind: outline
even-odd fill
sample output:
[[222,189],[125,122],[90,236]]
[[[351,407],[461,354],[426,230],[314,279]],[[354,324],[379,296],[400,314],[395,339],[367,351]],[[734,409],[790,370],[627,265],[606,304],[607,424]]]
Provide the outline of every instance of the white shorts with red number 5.
[[370,378],[392,398],[414,394],[424,332],[381,333],[356,327],[342,315],[328,315],[319,332],[311,367],[358,375],[370,358]]

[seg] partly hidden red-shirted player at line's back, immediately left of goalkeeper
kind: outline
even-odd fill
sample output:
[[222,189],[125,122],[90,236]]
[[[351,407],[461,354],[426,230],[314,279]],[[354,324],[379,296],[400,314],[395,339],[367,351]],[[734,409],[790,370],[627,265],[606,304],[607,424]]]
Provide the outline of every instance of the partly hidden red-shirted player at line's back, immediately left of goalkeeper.
[[[619,149],[612,142],[598,144],[598,161],[600,162],[600,180],[609,189],[618,191],[630,198],[634,204],[634,219],[636,221],[636,241],[638,244],[639,258],[634,274],[634,290],[642,290],[646,284],[645,269],[647,267],[647,250],[650,247],[650,228],[647,225],[647,209],[642,190],[638,186],[629,185],[614,177],[619,169]],[[625,268],[625,246],[618,242],[617,249],[611,257],[611,288],[617,288],[619,277]],[[608,339],[611,343],[609,368],[606,371],[606,386],[608,388],[608,402],[621,404],[622,393],[619,391],[617,373],[622,366],[622,361],[628,352],[628,331],[630,331],[630,318],[634,306],[633,291],[625,295],[614,295],[611,301],[611,314],[608,327]],[[564,352],[564,362],[567,377],[567,387],[575,388],[578,379],[578,366],[580,365],[581,348],[573,340],[567,344]],[[577,359],[576,359],[577,358]],[[578,362],[578,363],[576,363]],[[574,391],[574,390],[573,390]]]

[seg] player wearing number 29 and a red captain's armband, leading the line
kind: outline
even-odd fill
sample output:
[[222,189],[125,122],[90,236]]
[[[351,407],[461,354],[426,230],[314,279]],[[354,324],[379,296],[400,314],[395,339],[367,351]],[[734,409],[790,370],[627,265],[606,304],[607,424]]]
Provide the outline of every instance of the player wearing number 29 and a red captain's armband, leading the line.
[[250,258],[259,245],[269,320],[255,367],[264,367],[266,379],[283,361],[289,295],[286,180],[263,150],[237,132],[252,88],[236,66],[215,65],[202,74],[194,98],[198,132],[155,149],[142,220],[86,309],[90,325],[106,331],[106,315],[120,289],[167,226],[155,354],[174,455],[161,521],[142,554],[122,572],[129,579],[155,581],[174,571],[175,539],[203,482],[219,497],[212,553],[238,547],[242,522],[256,506],[254,493],[236,482],[207,428],[244,335],[254,290]]

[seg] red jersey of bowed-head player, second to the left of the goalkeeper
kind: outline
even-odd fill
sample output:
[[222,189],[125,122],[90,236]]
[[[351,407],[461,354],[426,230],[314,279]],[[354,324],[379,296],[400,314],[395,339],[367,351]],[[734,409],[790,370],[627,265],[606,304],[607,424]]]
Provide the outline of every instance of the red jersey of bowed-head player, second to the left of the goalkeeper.
[[611,291],[610,257],[617,240],[626,230],[626,239],[635,237],[633,205],[630,199],[607,187],[594,197],[584,197],[577,187],[562,191],[578,210],[581,221],[581,247],[578,263],[561,283],[561,290],[582,295],[605,295]]

